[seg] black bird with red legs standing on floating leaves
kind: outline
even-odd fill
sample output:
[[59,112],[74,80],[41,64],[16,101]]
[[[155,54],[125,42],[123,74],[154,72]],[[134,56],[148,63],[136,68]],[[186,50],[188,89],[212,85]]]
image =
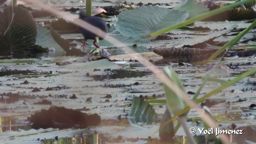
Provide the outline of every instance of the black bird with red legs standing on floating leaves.
[[[92,26],[95,26],[97,28],[99,28],[100,30],[102,30],[103,32],[107,33],[108,32],[108,27],[106,22],[99,17],[96,16],[88,16],[86,15],[85,10],[80,10],[79,12],[79,18],[81,20],[84,20],[85,22],[88,22],[89,24],[91,24]],[[83,43],[83,48],[84,48],[84,52],[85,52],[85,46],[86,46],[86,40],[90,39],[90,40],[94,40],[93,44],[94,46],[96,46],[97,48],[100,48],[100,46],[98,46],[98,44],[96,44],[96,36],[98,36],[97,34],[94,34],[80,26],[78,26],[78,30],[82,33],[82,35],[84,36],[84,43]],[[104,37],[100,37],[98,36],[100,40],[103,40],[105,38]],[[101,48],[100,48],[101,49]],[[101,49],[102,51],[102,49]]]

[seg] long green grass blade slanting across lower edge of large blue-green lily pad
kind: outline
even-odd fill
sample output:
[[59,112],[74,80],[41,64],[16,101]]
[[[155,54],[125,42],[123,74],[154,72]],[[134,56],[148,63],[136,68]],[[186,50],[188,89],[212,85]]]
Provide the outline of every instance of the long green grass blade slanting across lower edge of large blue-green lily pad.
[[164,29],[162,29],[162,30],[159,30],[159,31],[157,31],[157,32],[153,32],[153,33],[151,33],[151,34],[149,34],[149,35],[147,35],[147,36],[144,36],[144,37],[142,37],[142,38],[158,36],[158,35],[160,35],[160,34],[162,34],[162,33],[165,33],[165,32],[168,32],[168,31],[170,31],[170,30],[177,29],[177,28],[181,28],[182,26],[186,26],[186,25],[188,25],[188,24],[192,24],[193,22],[196,22],[196,21],[198,21],[198,20],[203,20],[203,19],[205,19],[205,18],[209,18],[210,16],[214,16],[214,15],[216,15],[216,14],[219,14],[219,13],[224,12],[224,11],[226,11],[226,10],[230,10],[230,9],[236,7],[236,6],[240,6],[241,4],[244,4],[244,3],[250,2],[250,1],[252,1],[252,0],[243,0],[243,1],[235,2],[234,4],[229,4],[229,5],[227,5],[227,6],[223,6],[223,7],[221,7],[221,8],[212,10],[212,11],[210,11],[210,12],[206,12],[206,13],[204,13],[204,14],[200,14],[199,16],[196,16],[196,17],[194,17],[194,18],[188,19],[188,20],[186,20],[186,21],[184,21],[184,22],[180,22],[180,23],[178,23],[178,24],[174,24],[174,25],[172,25],[172,26],[169,26],[169,27],[164,28]]

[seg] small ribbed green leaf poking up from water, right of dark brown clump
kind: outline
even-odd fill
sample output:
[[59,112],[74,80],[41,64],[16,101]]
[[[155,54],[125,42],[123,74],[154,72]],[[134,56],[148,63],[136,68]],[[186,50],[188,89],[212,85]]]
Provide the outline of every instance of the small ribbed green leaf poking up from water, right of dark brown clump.
[[147,101],[134,97],[128,118],[157,118],[154,108]]

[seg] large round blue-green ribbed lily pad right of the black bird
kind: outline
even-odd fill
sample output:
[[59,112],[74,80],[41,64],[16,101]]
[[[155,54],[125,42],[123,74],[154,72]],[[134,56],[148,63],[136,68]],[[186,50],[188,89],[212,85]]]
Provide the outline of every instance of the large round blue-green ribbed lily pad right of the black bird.
[[141,6],[119,14],[116,28],[124,36],[140,39],[141,36],[182,22],[187,18],[188,13],[186,12],[169,10],[158,6]]

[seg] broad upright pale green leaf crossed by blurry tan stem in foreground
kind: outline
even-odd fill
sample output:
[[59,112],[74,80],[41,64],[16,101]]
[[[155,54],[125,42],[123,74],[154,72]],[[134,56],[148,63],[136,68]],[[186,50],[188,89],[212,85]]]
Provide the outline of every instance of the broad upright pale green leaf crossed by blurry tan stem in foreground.
[[[164,67],[164,74],[176,84],[183,92],[185,92],[182,83],[180,82],[178,75],[173,70],[172,67]],[[166,103],[169,110],[175,115],[185,108],[185,103],[180,96],[178,96],[172,89],[170,89],[166,84],[164,85],[164,91],[166,94]]]

